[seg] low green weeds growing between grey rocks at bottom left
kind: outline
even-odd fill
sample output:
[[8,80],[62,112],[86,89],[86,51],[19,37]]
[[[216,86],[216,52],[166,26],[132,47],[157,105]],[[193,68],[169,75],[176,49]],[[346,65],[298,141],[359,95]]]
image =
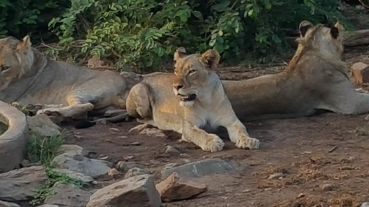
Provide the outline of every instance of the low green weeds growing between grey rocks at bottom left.
[[68,175],[56,172],[51,168],[47,168],[46,173],[49,179],[46,181],[44,186],[37,190],[30,202],[34,206],[42,204],[48,196],[55,194],[53,186],[56,182],[72,184],[80,188],[88,186],[88,183],[83,182],[82,180],[70,178]]

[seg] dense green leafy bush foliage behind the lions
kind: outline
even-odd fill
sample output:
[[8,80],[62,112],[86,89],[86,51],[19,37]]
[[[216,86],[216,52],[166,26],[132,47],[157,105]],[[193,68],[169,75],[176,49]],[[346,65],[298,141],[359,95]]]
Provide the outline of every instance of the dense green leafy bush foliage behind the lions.
[[[256,57],[266,61],[260,57],[286,51],[283,28],[296,29],[302,20],[346,23],[337,10],[339,0],[10,2],[0,0],[0,7],[8,11],[0,14],[1,34],[17,34],[22,29],[38,32],[33,26],[45,20],[43,13],[49,13],[54,15],[49,31],[58,37],[60,46],[49,53],[104,57],[125,70],[158,67],[172,59],[178,46],[189,52],[213,48],[227,60]],[[11,17],[9,10],[19,15]]]

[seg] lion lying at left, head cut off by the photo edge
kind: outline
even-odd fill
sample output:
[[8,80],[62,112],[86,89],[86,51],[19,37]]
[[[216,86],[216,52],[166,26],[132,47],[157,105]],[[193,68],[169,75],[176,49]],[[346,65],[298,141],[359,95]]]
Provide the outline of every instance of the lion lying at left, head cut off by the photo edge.
[[0,39],[0,71],[1,101],[35,104],[37,114],[62,119],[125,109],[130,88],[142,80],[135,73],[120,75],[46,59],[31,47],[29,36],[21,41],[11,36]]

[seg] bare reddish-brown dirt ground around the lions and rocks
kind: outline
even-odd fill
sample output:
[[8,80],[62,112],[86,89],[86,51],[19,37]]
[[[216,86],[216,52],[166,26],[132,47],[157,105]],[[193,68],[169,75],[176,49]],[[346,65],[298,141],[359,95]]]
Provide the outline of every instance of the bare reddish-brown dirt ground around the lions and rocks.
[[[369,46],[347,48],[345,56],[349,66],[359,61],[369,63]],[[277,73],[284,66],[281,63],[253,69],[226,67],[218,74],[224,80],[241,80]],[[367,85],[357,87],[369,90]],[[165,132],[167,138],[128,133],[138,125],[135,121],[88,129],[76,130],[71,125],[65,128],[69,132],[68,144],[92,151],[93,158],[108,156],[107,161],[114,164],[137,161],[156,175],[156,182],[160,181],[161,167],[172,162],[185,164],[217,157],[238,160],[247,166],[246,172],[238,176],[213,175],[197,179],[208,186],[206,193],[189,200],[164,203],[165,207],[356,207],[369,201],[369,123],[365,116],[325,113],[244,123],[249,134],[260,140],[259,150],[240,150],[224,138],[224,150],[212,153],[194,144],[179,143],[180,135],[170,131]],[[141,145],[134,146],[132,142]],[[164,156],[166,145],[179,148],[182,154]],[[278,172],[284,175],[267,179]],[[122,178],[123,175],[114,179],[100,178],[98,186]],[[322,189],[325,184],[332,189]]]

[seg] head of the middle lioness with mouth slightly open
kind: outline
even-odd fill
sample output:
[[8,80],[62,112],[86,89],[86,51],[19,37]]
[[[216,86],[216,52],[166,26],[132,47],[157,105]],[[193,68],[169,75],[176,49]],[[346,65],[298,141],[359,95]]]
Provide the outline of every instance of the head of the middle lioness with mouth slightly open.
[[206,95],[203,90],[212,78],[217,78],[211,74],[215,74],[219,60],[220,55],[215,50],[207,50],[202,55],[188,55],[182,47],[176,50],[173,91],[180,97],[181,105],[192,105],[195,99]]

